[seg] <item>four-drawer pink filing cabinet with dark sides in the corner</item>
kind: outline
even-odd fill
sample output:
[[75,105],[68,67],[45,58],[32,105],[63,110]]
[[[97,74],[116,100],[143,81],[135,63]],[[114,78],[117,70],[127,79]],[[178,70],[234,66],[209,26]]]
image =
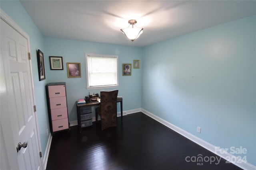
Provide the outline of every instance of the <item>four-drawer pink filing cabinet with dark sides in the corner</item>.
[[54,134],[63,130],[69,131],[66,83],[49,83],[46,92],[51,132]]

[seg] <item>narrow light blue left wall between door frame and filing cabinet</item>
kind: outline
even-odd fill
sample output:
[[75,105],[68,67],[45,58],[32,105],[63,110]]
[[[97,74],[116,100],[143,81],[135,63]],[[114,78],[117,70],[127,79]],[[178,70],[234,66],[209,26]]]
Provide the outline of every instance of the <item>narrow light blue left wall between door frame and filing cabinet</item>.
[[[47,84],[46,80],[39,81],[38,78],[38,67],[37,67],[37,58],[36,51],[40,49],[43,53],[44,48],[44,37],[28,16],[27,12],[21,5],[20,1],[0,1],[0,8],[8,15],[12,20],[14,20],[30,37],[30,52],[31,52],[31,61],[32,61],[32,74],[34,81],[34,92],[36,96],[36,108],[37,108],[37,117],[40,131],[40,141],[42,147],[42,153],[44,155],[46,145],[48,142],[48,137],[50,135],[46,134],[46,129],[49,129],[48,121],[48,111],[46,103],[46,93],[45,85]],[[46,62],[47,60],[44,59]],[[50,129],[49,129],[50,130]]]

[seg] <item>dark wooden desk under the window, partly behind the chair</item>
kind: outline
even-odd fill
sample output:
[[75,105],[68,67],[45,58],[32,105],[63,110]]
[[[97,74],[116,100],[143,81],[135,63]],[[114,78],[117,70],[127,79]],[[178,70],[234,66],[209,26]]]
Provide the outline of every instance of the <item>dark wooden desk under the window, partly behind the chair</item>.
[[[122,99],[117,99],[117,103],[120,102],[120,109],[121,109],[121,123],[123,123],[123,100]],[[100,106],[100,103],[97,102],[91,102],[91,103],[86,103],[86,104],[77,104],[76,103],[76,109],[77,109],[77,121],[78,121],[78,127],[79,127],[79,131],[81,132],[81,115],[82,114],[89,114],[91,113],[91,111],[89,111],[88,113],[82,113],[81,114],[81,109],[85,108],[85,107],[93,107],[93,106]],[[117,113],[117,112],[116,112]],[[96,117],[96,121],[98,120],[98,117]],[[91,123],[91,124],[90,124]],[[92,121],[88,124],[88,126],[92,125]],[[84,126],[87,127],[87,126]]]

